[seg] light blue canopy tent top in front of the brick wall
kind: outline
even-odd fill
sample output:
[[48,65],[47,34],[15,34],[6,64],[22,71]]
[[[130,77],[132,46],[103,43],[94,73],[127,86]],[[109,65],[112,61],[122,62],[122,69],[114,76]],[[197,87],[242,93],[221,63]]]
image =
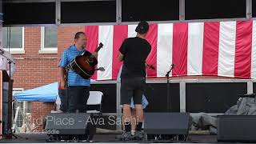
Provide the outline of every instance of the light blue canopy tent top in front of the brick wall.
[[17,101],[55,102],[56,98],[58,98],[58,82],[14,93],[14,99]]

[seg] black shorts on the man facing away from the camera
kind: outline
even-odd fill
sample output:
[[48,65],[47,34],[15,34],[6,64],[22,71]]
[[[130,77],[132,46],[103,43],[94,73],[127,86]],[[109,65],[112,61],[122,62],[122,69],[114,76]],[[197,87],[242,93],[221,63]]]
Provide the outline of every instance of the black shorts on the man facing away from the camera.
[[121,79],[121,105],[129,104],[134,98],[134,104],[142,104],[142,94],[146,86],[146,78]]

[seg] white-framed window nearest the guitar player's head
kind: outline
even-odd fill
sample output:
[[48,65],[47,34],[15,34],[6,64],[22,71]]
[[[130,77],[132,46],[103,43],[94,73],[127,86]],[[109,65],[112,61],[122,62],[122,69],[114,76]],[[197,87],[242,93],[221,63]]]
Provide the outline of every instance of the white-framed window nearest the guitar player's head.
[[41,50],[39,53],[57,53],[57,26],[41,27]]

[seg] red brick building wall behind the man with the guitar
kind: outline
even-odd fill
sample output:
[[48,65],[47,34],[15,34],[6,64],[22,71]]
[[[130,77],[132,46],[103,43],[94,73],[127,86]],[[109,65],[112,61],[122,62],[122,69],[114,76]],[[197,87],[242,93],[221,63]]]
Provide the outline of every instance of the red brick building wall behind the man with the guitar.
[[[29,90],[52,82],[58,82],[58,59],[62,52],[74,43],[74,34],[84,31],[83,26],[58,27],[58,54],[39,54],[41,27],[28,26],[24,31],[25,54],[13,54],[17,66],[14,88]],[[32,102],[31,113],[35,120],[44,118],[54,110],[54,102]],[[38,130],[41,130],[39,126]]]

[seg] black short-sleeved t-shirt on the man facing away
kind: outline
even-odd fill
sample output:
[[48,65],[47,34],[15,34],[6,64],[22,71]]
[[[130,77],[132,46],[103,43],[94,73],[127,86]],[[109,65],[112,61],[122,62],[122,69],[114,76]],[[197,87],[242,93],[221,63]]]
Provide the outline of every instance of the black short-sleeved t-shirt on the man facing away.
[[119,51],[124,55],[121,78],[146,78],[145,62],[151,46],[146,39],[126,38]]

